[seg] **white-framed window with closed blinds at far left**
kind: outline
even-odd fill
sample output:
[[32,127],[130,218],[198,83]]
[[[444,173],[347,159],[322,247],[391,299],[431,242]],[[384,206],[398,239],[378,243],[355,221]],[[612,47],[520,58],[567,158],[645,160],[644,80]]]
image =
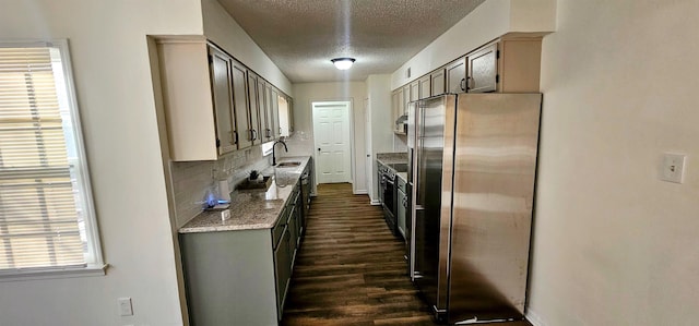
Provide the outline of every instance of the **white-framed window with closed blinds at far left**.
[[0,43],[0,277],[103,273],[66,40]]

